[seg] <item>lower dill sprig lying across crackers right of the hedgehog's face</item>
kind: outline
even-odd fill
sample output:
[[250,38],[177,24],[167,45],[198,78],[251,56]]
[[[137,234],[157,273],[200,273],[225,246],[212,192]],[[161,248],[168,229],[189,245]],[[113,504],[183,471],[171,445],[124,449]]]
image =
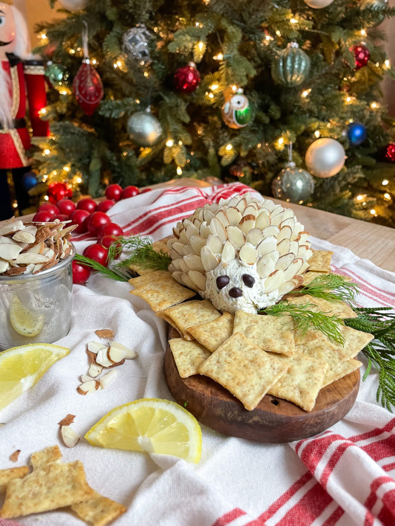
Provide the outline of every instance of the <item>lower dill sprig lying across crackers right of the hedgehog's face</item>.
[[270,314],[272,316],[281,316],[289,314],[295,322],[295,329],[299,329],[302,336],[309,330],[310,327],[320,330],[323,335],[331,341],[337,343],[344,343],[344,337],[340,332],[340,325],[342,319],[337,316],[328,316],[325,312],[316,312],[312,309],[317,308],[311,302],[306,302],[301,305],[291,304],[289,301],[280,301],[273,305],[259,311],[260,313]]

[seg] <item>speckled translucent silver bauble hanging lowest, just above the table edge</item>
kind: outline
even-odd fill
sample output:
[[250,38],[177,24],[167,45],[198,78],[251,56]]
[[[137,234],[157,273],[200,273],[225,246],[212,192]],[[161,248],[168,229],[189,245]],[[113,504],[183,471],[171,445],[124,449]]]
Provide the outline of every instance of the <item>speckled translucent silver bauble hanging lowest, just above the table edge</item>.
[[273,179],[273,197],[287,201],[287,203],[298,203],[309,199],[314,191],[314,179],[307,170],[298,168],[292,161],[283,168]]

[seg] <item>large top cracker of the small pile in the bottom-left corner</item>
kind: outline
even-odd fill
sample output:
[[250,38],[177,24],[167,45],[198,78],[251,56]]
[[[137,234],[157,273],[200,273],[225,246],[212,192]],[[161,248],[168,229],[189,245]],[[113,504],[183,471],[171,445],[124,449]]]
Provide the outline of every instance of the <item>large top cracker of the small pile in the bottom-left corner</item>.
[[94,493],[86,482],[82,462],[50,462],[23,479],[8,482],[0,517],[10,519],[63,508],[91,499]]

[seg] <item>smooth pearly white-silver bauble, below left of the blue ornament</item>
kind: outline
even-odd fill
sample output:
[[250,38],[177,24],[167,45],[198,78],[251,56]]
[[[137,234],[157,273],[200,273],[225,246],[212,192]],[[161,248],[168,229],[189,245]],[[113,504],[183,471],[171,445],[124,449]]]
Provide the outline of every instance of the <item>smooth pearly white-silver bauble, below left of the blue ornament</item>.
[[343,168],[345,151],[339,141],[325,137],[315,140],[308,147],[304,161],[316,177],[332,177]]

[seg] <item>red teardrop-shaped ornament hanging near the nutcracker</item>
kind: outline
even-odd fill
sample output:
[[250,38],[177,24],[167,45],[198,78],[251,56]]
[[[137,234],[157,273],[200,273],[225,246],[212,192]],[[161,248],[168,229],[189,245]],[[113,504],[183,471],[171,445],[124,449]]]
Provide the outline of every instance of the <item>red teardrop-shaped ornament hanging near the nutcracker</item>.
[[93,115],[103,98],[104,88],[100,75],[88,58],[82,61],[74,77],[73,90],[86,115]]

